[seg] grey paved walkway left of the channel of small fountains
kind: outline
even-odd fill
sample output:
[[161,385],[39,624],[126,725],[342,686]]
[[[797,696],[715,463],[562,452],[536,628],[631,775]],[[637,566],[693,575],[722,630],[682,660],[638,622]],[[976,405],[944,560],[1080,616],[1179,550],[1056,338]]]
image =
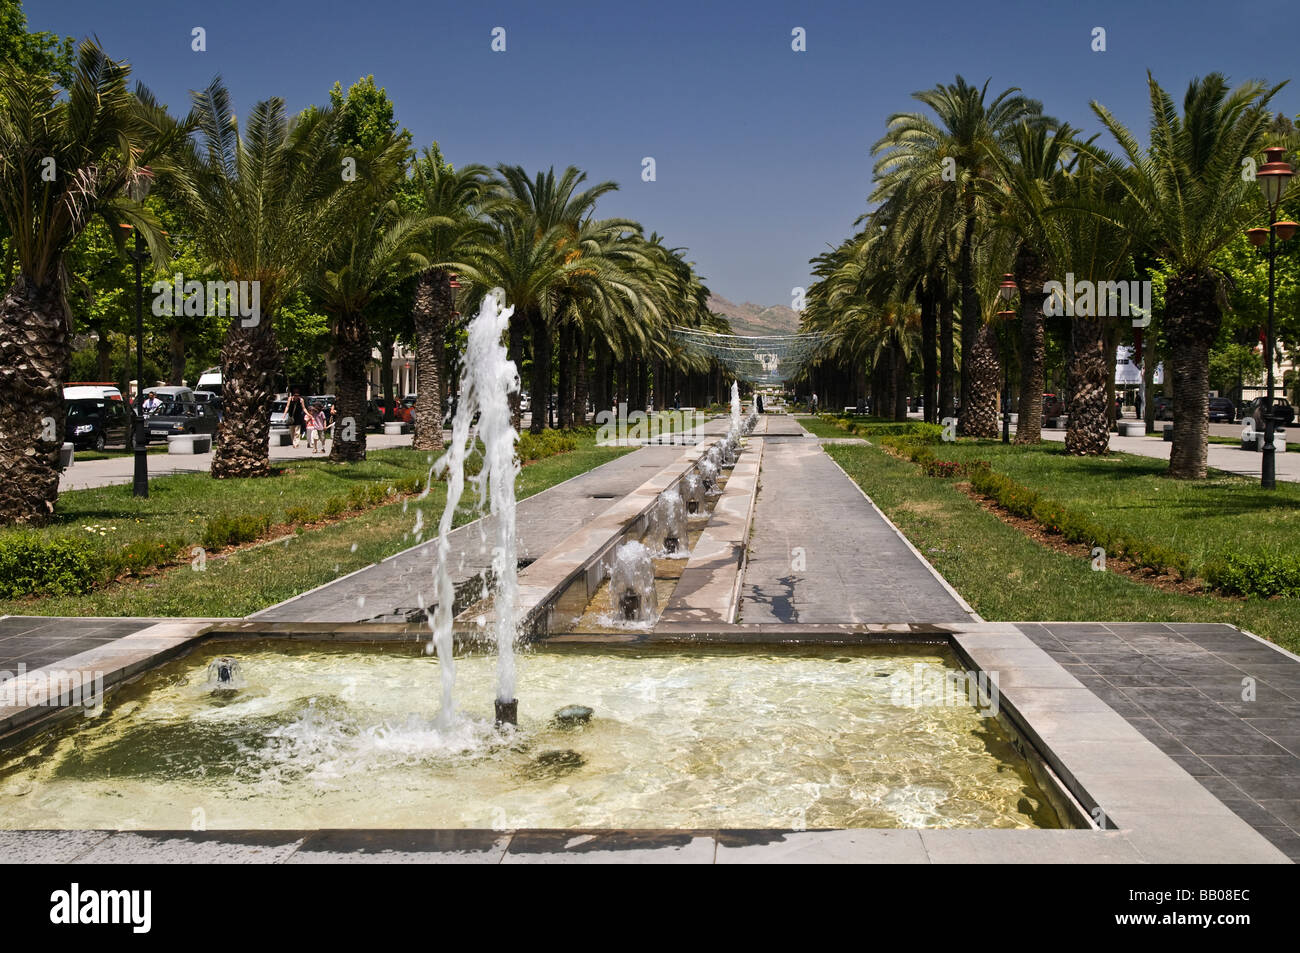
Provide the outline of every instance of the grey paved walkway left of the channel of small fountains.
[[[722,432],[714,421],[706,433]],[[519,503],[516,534],[519,560],[530,563],[569,533],[614,506],[654,473],[681,455],[680,445],[645,446],[595,469],[588,471]],[[472,490],[471,490],[472,493]],[[430,515],[429,538],[417,546],[389,556],[320,589],[298,595],[250,616],[266,621],[403,621],[422,618],[420,597],[430,599],[436,555],[437,519]],[[450,534],[452,582],[462,585],[491,566],[491,549],[484,543],[490,524],[471,523]]]

